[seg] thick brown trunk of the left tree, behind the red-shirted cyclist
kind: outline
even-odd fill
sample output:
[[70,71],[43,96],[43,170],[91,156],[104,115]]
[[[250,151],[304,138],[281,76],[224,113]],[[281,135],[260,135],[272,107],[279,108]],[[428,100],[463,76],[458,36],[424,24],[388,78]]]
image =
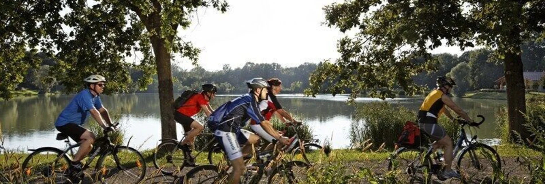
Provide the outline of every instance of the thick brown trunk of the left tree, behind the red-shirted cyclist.
[[177,139],[176,125],[172,109],[172,72],[171,56],[165,47],[165,41],[159,36],[151,38],[155,62],[157,66],[157,78],[159,79],[159,106],[161,109],[161,138]]

